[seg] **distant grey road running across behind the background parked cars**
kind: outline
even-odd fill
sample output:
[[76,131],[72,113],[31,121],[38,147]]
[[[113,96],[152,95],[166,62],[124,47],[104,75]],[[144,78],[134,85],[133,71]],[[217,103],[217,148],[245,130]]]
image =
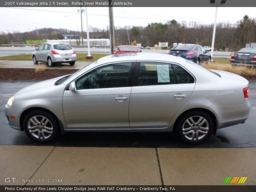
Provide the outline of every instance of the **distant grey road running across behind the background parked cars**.
[[[74,48],[77,53],[87,53],[87,48]],[[34,47],[0,47],[0,57],[8,55],[20,55],[20,54],[32,54],[34,52]],[[156,52],[156,53],[166,53],[167,50],[151,50],[143,49],[142,52]],[[105,48],[91,48],[91,53],[110,53],[109,49]],[[213,57],[215,58],[228,58],[232,52],[220,52],[214,51]]]

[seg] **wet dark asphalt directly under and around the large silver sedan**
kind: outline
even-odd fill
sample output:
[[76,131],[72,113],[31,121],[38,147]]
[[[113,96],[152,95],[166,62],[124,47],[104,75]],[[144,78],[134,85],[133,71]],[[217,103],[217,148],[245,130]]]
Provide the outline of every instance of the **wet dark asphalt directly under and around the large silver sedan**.
[[39,144],[24,132],[10,128],[4,116],[8,98],[35,81],[0,81],[0,145],[63,146],[63,147],[117,147],[117,148],[251,148],[256,147],[256,81],[250,82],[249,118],[244,124],[223,128],[200,145],[181,143],[172,133],[66,133],[55,142]]

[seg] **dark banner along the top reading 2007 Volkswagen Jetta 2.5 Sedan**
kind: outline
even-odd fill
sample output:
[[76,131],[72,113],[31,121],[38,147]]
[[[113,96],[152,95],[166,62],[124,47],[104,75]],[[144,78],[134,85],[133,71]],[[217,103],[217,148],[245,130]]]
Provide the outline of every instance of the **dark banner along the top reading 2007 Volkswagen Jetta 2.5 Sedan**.
[[0,0],[0,7],[256,7],[256,0]]

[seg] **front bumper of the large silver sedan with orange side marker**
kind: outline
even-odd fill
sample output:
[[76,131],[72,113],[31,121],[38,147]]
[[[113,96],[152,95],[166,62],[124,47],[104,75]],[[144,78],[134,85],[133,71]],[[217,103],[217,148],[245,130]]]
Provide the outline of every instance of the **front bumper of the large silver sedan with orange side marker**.
[[[21,110],[20,109],[16,109],[16,108],[10,108],[7,105],[5,105],[4,107],[4,114],[7,118],[7,122],[9,124],[10,127],[12,127],[13,129],[22,131],[20,128],[20,115],[21,115]],[[11,118],[12,116],[12,118]],[[15,118],[13,118],[15,117]]]

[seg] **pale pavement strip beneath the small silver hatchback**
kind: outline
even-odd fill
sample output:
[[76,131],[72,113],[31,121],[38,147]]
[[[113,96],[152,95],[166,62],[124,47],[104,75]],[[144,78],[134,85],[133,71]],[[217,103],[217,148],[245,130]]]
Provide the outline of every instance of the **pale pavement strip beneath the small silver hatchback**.
[[[84,66],[91,64],[92,61],[76,61],[74,66],[70,66],[68,63],[56,64],[54,67],[48,67],[47,69],[81,69]],[[0,60],[0,68],[36,68],[37,65],[33,61],[7,61]]]

